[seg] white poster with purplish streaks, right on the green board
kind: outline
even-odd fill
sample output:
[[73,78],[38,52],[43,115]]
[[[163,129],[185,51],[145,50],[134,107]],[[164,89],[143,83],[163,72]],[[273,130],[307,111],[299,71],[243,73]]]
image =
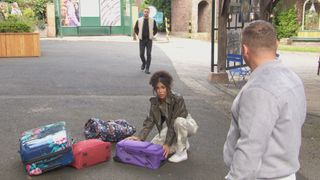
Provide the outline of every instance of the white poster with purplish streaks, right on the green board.
[[120,0],[100,0],[101,26],[121,26]]

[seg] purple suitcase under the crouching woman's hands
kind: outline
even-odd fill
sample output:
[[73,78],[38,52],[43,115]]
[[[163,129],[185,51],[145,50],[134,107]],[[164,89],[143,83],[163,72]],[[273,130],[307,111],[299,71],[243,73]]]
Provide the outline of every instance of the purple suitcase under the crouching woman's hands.
[[126,139],[117,143],[114,159],[150,169],[158,169],[165,160],[161,145]]

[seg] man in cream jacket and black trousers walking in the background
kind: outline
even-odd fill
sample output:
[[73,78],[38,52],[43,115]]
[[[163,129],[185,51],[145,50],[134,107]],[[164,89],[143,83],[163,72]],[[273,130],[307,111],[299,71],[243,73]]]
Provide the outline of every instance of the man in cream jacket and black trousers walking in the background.
[[[149,17],[149,13],[150,9],[144,8],[143,17],[139,18],[134,26],[134,32],[139,38],[141,70],[145,70],[146,74],[150,74],[152,39],[158,33],[156,21]],[[144,55],[145,49],[147,49],[147,61]]]

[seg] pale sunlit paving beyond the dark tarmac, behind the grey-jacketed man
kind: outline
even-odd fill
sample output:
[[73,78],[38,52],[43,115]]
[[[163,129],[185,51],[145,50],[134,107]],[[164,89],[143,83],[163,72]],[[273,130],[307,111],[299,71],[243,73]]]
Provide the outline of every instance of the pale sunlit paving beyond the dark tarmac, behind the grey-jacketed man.
[[[209,42],[172,38],[158,46],[172,60],[179,77],[195,92],[206,95],[208,102],[230,117],[230,107],[239,89],[207,81],[210,67]],[[215,48],[217,49],[217,48]],[[320,76],[317,76],[319,53],[279,52],[283,63],[295,71],[305,85],[307,119],[303,127],[300,153],[301,169],[298,179],[320,177]],[[215,53],[217,55],[217,53]]]

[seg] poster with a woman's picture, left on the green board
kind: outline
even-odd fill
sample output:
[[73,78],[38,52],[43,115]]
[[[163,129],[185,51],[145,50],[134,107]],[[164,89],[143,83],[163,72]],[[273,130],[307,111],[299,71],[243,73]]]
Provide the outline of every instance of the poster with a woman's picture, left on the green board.
[[61,26],[80,26],[79,0],[60,1]]

